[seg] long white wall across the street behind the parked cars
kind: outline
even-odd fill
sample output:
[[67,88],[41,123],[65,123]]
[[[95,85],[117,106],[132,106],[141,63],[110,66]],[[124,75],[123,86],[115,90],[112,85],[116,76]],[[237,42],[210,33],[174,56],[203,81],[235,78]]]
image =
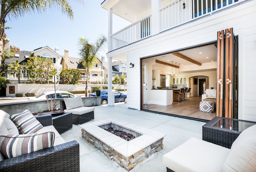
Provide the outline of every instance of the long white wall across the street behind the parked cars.
[[[46,91],[54,91],[54,84],[6,84],[6,97],[15,97],[15,94],[9,94],[9,86],[15,87],[15,93],[35,93],[40,94]],[[56,90],[60,91],[77,91],[85,90],[85,84],[56,84]],[[88,90],[92,86],[108,86],[108,84],[88,84]],[[114,89],[124,89],[124,85],[113,84]],[[125,87],[126,88],[126,87]]]

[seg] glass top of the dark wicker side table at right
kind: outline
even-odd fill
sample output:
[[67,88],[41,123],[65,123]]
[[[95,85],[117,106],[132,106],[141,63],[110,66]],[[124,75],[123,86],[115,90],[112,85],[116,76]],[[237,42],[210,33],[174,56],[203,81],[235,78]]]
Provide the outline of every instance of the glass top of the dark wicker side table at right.
[[255,124],[256,123],[252,123],[252,122],[243,122],[243,121],[236,121],[236,120],[232,120],[232,119],[221,118],[218,122],[216,122],[212,126],[242,132],[243,130],[245,130],[248,127],[251,127],[252,125],[255,125]]

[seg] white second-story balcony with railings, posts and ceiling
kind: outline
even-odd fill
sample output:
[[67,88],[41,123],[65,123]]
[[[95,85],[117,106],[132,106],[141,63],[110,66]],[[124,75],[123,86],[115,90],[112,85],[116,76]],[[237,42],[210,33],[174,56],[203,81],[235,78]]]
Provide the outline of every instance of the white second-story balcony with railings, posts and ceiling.
[[[140,41],[245,0],[105,0],[109,12],[108,51]],[[112,34],[112,13],[131,24]]]

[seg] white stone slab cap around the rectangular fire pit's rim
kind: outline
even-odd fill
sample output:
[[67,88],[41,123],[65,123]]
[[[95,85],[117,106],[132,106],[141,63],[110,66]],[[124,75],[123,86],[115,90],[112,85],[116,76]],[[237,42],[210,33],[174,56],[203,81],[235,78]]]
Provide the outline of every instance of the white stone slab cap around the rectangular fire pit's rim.
[[[133,140],[126,141],[121,137],[118,137],[99,127],[101,125],[106,125],[110,123],[118,125],[119,127],[123,127],[127,130],[139,133],[141,134],[141,136],[136,137]],[[81,127],[87,133],[93,135],[94,137],[96,137],[106,145],[110,146],[115,151],[119,152],[125,157],[129,157],[137,153],[138,151],[146,148],[147,146],[155,143],[156,141],[166,136],[165,133],[141,127],[115,118],[82,124],[79,125],[79,127]]]

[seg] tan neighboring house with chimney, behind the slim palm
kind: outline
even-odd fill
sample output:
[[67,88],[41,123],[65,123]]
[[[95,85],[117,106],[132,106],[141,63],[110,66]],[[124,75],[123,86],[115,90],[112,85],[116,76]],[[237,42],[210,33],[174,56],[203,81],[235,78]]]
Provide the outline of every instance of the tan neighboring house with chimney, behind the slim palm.
[[[88,77],[88,84],[101,84],[104,83],[107,77],[107,73],[105,75],[106,70],[104,69],[102,63],[103,61],[97,57],[97,62],[89,70],[87,74],[86,70],[82,68],[82,65],[79,63],[79,58],[69,57],[68,50],[64,50],[64,56],[61,58],[60,64],[63,69],[79,69],[82,72],[82,78],[79,80],[80,84],[85,84],[86,78]],[[62,84],[65,82],[62,80]]]

